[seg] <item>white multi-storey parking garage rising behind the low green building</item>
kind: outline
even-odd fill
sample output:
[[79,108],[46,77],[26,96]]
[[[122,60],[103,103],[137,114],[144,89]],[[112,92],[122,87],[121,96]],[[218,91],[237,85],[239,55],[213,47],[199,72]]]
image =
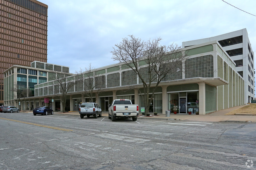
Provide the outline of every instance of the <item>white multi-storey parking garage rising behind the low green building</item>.
[[252,50],[246,28],[199,40],[186,41],[182,47],[189,47],[205,42],[217,40],[222,48],[228,53],[236,64],[236,71],[244,78],[244,98],[245,103],[250,103],[254,99],[254,52]]

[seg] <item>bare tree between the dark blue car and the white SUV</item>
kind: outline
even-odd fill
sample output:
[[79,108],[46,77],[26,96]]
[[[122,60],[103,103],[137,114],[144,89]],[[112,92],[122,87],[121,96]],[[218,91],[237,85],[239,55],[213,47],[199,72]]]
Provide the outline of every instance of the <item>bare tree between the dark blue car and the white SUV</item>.
[[68,92],[73,92],[76,84],[82,80],[82,75],[80,72],[76,72],[75,74],[59,72],[59,71],[51,71],[51,80],[54,80],[54,90],[53,93],[55,96],[60,98],[60,102],[62,103],[63,112],[66,112],[66,97]]

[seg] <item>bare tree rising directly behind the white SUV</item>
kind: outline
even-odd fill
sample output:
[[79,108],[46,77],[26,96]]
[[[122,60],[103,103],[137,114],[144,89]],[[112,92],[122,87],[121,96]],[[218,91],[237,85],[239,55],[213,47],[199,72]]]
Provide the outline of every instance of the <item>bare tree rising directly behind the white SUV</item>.
[[[97,100],[98,94],[101,93],[102,88],[106,88],[106,78],[104,75],[96,75],[95,68],[91,66],[91,63],[85,71],[84,75],[84,86],[83,90],[80,91],[83,95],[86,95],[90,98],[90,101],[93,101],[93,97],[95,94],[95,98]],[[97,101],[96,101],[97,102]]]

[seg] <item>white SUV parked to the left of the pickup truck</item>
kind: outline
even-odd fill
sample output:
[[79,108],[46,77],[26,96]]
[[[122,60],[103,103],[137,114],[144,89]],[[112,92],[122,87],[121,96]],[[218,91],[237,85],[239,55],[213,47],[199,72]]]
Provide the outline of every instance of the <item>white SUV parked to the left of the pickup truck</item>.
[[96,119],[98,115],[99,117],[101,117],[102,115],[100,106],[97,103],[93,102],[82,103],[79,108],[79,114],[81,119],[83,119],[85,115],[87,117],[93,115]]

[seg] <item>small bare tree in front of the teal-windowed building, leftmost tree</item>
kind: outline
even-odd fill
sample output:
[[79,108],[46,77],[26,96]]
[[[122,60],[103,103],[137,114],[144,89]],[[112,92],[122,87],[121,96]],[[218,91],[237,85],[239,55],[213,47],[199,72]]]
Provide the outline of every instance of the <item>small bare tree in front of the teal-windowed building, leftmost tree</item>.
[[21,110],[21,103],[25,101],[26,97],[29,97],[32,91],[29,88],[26,88],[23,85],[18,85],[17,83],[14,84],[13,88],[11,89],[11,96],[13,98],[18,99],[18,106],[19,110]]

